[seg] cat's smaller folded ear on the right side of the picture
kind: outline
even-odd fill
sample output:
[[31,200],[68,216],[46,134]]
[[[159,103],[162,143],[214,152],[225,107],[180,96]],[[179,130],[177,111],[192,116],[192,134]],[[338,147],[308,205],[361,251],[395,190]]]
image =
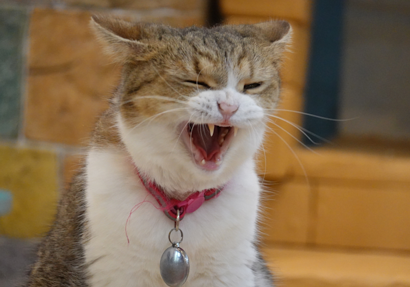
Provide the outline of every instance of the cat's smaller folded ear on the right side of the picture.
[[292,27],[287,21],[268,21],[253,26],[272,44],[286,46],[292,39]]

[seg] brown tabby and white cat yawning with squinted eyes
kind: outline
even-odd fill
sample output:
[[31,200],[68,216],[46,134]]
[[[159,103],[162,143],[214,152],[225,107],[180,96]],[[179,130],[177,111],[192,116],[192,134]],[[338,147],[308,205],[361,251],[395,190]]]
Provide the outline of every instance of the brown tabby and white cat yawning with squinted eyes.
[[[122,77],[26,286],[166,286],[160,259],[176,213],[190,264],[184,286],[273,286],[257,245],[254,154],[280,100],[289,23],[90,24]],[[173,205],[193,195],[193,212]]]

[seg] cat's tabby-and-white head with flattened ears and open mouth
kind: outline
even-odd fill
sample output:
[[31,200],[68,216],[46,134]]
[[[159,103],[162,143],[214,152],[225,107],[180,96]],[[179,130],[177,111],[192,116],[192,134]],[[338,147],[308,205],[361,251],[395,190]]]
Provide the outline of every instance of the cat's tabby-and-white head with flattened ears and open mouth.
[[[137,165],[160,184],[182,182],[177,175],[182,173],[202,188],[223,183],[252,158],[263,139],[266,113],[279,101],[288,22],[212,29],[104,17],[91,23],[124,66],[118,124]],[[184,186],[177,185],[170,188]]]

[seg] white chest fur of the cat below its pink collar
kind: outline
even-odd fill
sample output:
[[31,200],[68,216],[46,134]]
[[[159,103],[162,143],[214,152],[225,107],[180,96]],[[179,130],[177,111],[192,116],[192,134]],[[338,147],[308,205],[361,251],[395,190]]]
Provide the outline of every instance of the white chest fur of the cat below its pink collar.
[[[91,151],[87,164],[86,243],[90,285],[166,286],[160,275],[160,258],[170,246],[173,227],[162,211],[145,202],[125,222],[132,208],[146,200],[157,202],[141,184],[125,153]],[[249,160],[231,178],[217,199],[204,202],[180,224],[181,247],[190,259],[184,287],[253,286],[250,269],[255,260],[252,241],[260,187]]]

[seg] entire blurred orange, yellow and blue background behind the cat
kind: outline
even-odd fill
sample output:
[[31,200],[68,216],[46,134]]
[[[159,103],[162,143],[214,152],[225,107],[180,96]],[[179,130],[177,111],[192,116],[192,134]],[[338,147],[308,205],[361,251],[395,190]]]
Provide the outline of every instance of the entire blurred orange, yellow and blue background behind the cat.
[[288,20],[284,99],[259,154],[269,267],[280,286],[410,286],[408,0],[0,1],[0,286],[33,260],[118,83],[94,13]]

